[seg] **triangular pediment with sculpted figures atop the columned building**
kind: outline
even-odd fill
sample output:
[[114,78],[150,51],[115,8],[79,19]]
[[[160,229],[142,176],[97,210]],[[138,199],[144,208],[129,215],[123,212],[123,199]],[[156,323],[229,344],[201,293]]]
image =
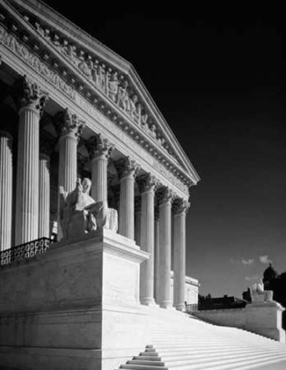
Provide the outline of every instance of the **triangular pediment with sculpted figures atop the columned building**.
[[[0,0],[13,7],[46,63],[124,128],[183,183],[200,179],[133,66],[38,0]],[[31,42],[31,41],[30,41]],[[31,46],[31,45],[30,45]],[[168,164],[168,165],[167,165]]]

